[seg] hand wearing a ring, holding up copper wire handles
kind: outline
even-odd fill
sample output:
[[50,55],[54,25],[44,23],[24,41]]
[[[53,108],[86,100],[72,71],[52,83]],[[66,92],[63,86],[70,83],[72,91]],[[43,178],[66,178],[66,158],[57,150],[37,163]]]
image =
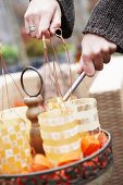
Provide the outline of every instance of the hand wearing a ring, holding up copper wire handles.
[[[32,0],[25,16],[26,34],[32,37],[46,38],[54,34],[56,28],[61,26],[61,10],[57,0]],[[35,30],[29,32],[29,26]]]

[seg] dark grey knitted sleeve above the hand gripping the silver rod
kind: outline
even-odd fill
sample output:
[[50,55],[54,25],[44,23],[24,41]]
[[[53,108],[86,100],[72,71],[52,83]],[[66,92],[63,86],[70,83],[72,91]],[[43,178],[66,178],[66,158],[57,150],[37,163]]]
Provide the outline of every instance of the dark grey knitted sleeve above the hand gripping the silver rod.
[[86,33],[103,36],[123,52],[123,0],[100,0],[83,30]]

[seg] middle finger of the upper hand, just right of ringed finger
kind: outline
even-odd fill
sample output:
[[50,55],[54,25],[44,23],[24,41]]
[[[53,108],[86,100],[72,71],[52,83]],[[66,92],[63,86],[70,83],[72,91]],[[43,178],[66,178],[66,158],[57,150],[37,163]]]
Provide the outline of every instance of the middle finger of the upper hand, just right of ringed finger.
[[39,28],[38,28],[38,33],[39,33],[39,38],[42,38],[42,35],[46,38],[49,38],[49,27],[50,27],[50,22],[51,22],[51,16],[41,16],[40,22],[39,22]]

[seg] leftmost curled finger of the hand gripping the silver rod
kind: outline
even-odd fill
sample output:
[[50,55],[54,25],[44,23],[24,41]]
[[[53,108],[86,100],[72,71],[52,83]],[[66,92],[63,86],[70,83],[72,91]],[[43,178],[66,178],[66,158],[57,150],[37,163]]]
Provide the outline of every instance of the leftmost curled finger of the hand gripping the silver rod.
[[86,75],[94,76],[96,73],[96,70],[95,70],[93,59],[89,57],[89,54],[88,55],[83,54],[82,59],[83,59],[82,67],[85,71]]

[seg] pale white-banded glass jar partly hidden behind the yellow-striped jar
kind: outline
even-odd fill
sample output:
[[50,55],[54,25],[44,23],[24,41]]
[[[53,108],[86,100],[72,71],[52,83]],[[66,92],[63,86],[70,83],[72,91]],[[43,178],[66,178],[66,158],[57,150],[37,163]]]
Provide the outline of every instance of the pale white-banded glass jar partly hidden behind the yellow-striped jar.
[[79,121],[78,130],[82,136],[88,131],[91,132],[100,127],[95,98],[69,100],[65,104],[73,110],[75,119]]

